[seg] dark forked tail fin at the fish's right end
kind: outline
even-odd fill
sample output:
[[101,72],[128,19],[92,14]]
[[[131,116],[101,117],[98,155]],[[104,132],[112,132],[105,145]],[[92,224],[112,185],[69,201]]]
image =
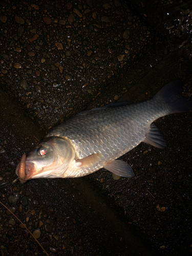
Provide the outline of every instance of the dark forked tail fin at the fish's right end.
[[182,86],[182,80],[169,82],[154,96],[154,98],[161,99],[168,105],[170,108],[168,114],[187,112],[192,109],[192,101],[181,95]]

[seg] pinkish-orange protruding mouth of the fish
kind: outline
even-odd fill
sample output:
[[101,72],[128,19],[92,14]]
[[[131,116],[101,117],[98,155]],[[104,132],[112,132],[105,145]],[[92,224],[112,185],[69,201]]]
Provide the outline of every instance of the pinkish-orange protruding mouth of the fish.
[[24,154],[16,167],[15,174],[18,176],[20,183],[25,183],[34,175],[35,169],[35,164],[27,161],[26,155]]

